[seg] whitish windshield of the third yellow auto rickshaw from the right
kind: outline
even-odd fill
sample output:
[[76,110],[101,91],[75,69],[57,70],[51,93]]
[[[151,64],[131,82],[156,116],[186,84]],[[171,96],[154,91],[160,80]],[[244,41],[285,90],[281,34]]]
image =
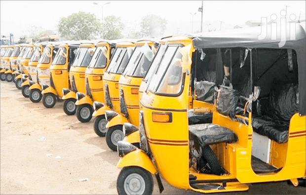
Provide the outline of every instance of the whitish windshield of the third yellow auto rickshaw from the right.
[[124,75],[144,77],[150,68],[154,57],[154,52],[146,43],[143,46],[137,46],[123,72]]

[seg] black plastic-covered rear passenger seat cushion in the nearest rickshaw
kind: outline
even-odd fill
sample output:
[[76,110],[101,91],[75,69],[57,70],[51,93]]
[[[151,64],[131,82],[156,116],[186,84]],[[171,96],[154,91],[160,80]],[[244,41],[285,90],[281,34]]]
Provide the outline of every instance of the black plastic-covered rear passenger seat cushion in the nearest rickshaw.
[[288,122],[275,121],[268,116],[260,116],[252,118],[252,127],[258,134],[267,136],[277,143],[286,143],[288,141]]

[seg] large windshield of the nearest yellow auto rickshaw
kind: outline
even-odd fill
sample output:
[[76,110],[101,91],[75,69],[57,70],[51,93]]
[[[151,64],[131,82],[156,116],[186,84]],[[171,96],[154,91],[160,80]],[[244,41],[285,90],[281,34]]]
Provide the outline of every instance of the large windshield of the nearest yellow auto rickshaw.
[[159,94],[178,94],[181,91],[183,76],[182,54],[179,46],[168,46],[159,61],[148,89]]

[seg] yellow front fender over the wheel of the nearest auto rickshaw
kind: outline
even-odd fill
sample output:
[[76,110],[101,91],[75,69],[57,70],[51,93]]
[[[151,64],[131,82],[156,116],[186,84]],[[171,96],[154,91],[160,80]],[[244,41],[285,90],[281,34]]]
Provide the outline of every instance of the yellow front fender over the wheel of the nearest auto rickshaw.
[[124,157],[120,158],[119,162],[117,163],[117,167],[121,168],[126,166],[139,166],[146,169],[152,174],[155,174],[157,172],[151,159],[141,149],[132,151]]

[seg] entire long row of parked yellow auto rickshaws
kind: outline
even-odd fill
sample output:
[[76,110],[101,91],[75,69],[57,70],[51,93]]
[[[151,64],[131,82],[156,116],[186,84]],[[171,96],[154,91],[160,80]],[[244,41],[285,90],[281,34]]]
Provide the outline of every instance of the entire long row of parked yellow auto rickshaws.
[[152,194],[152,175],[160,193],[160,177],[201,193],[302,186],[305,23],[282,47],[260,30],[3,46],[0,78],[46,108],[64,101],[82,123],[94,117],[120,157],[120,195]]

